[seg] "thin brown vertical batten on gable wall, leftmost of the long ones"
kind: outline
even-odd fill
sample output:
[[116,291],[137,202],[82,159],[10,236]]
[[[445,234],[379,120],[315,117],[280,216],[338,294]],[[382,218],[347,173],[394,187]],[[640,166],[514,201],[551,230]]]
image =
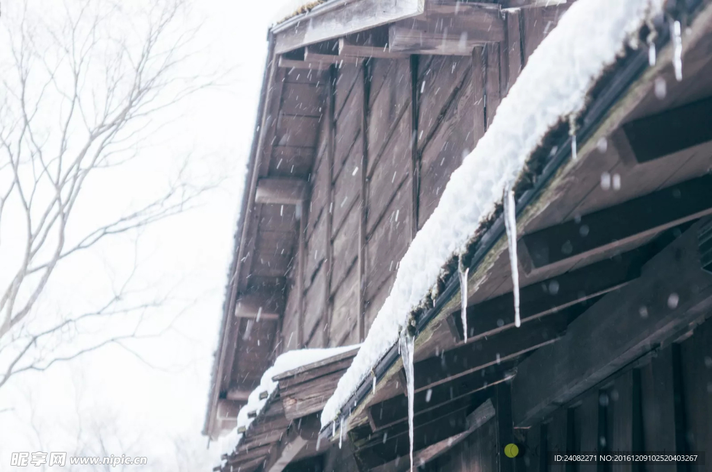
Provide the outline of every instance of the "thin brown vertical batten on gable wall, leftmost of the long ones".
[[325,237],[325,261],[324,261],[324,311],[322,313],[322,345],[329,345],[329,333],[331,324],[331,275],[333,269],[333,245],[332,245],[332,233],[334,224],[334,149],[335,149],[335,133],[336,133],[336,80],[337,80],[337,70],[335,65],[331,65],[329,68],[329,83],[328,83],[328,104],[327,104],[327,119],[328,121],[328,139],[327,139],[327,151],[326,151],[326,174],[327,174],[327,198],[326,198],[326,237]]

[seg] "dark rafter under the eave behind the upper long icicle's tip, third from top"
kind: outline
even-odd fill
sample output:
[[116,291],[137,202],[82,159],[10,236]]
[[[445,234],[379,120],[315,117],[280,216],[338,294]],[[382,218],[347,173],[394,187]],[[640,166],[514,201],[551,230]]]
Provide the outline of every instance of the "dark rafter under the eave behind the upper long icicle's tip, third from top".
[[[522,287],[519,291],[521,319],[532,321],[619,289],[639,277],[645,261],[645,251],[634,250]],[[456,338],[463,340],[460,311],[450,315],[449,323],[455,328]],[[468,338],[473,340],[513,326],[511,292],[467,308]]]

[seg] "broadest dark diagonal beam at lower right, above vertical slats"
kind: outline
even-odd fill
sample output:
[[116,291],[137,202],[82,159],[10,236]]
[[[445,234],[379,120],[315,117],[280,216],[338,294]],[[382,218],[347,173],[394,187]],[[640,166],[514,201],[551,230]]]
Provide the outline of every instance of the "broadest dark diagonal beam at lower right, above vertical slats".
[[709,311],[712,274],[699,267],[698,226],[656,254],[642,277],[573,321],[559,343],[519,365],[512,387],[515,425],[535,424]]

